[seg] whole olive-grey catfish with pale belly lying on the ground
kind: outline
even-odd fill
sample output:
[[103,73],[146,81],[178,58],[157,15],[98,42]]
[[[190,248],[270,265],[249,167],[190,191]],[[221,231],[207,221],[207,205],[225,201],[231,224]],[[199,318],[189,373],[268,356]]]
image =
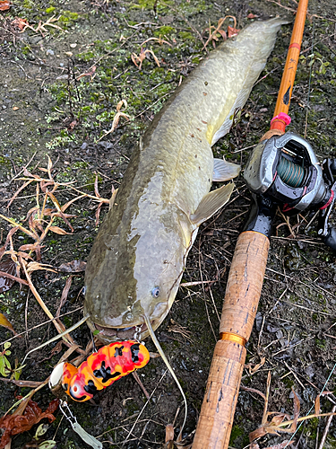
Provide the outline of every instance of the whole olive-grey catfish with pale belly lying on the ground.
[[85,272],[84,313],[104,343],[148,335],[167,315],[199,225],[227,201],[235,164],[211,145],[228,133],[273,48],[280,19],[254,22],[212,51],[135,145]]

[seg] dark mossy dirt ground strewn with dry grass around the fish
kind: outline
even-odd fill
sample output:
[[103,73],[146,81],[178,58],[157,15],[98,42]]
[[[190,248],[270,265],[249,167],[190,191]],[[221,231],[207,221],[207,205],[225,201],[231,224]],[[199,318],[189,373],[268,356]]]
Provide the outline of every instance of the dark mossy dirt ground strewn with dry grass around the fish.
[[[87,194],[66,210],[73,215],[69,217],[73,232],[61,217],[56,218],[53,225],[66,233],[60,234],[54,228],[55,232],[47,234],[41,249],[42,263],[56,269],[65,262],[87,260],[99,227],[95,180],[101,198],[110,198],[112,187],[116,189],[122,181],[134,143],[169,94],[206,56],[203,42],[209,36],[206,29],[210,24],[217,25],[225,15],[237,19],[238,29],[252,20],[276,14],[293,18],[296,4],[292,0],[13,0],[11,8],[0,13],[0,213],[29,228],[25,219],[37,205],[36,186],[41,187],[41,183],[31,181],[10,207],[9,199],[22,187],[22,177],[32,179],[22,171],[23,167],[32,175],[48,178],[47,156],[53,163],[52,177],[63,184],[54,192],[61,206],[80,195],[65,182],[73,181],[71,185]],[[30,27],[22,31],[24,23],[19,19],[27,20]],[[233,18],[228,18],[227,24],[234,26]],[[335,0],[312,0],[288,129],[306,136],[321,161],[332,157],[335,148],[335,31]],[[214,147],[214,154],[225,155],[243,168],[252,145],[269,127],[290,33],[291,25],[282,27],[240,121]],[[139,67],[141,50],[145,48],[152,53],[146,53]],[[207,48],[211,50],[212,42]],[[119,115],[117,128],[108,133],[117,108],[127,117]],[[40,203],[43,198],[39,190]],[[183,283],[196,285],[180,288],[171,312],[156,332],[187,398],[183,433],[186,446],[194,436],[217,340],[230,261],[251,202],[242,177],[237,180],[232,198],[228,207],[202,225],[183,278]],[[47,207],[56,207],[56,200],[48,198]],[[107,204],[101,207],[100,223],[107,210]],[[314,401],[322,391],[329,392],[321,397],[323,413],[336,404],[336,260],[317,236],[317,219],[311,218],[308,213],[289,221],[280,213],[276,216],[263,293],[247,344],[247,365],[230,447],[248,447],[249,433],[261,425],[264,401],[255,390],[266,392],[269,373],[268,409],[273,412],[292,417],[294,392],[301,417],[314,412]],[[49,219],[45,216],[43,227]],[[3,245],[12,226],[2,217],[0,227]],[[21,230],[13,234],[14,251],[33,242]],[[21,251],[29,253],[29,248]],[[36,260],[36,252],[30,256]],[[38,270],[30,276],[53,315],[61,304],[65,286],[70,287],[60,307],[60,320],[66,328],[82,318],[82,272]],[[12,344],[7,358],[13,374],[15,359],[22,363],[30,349],[57,332],[28,286],[15,284],[0,294],[0,312],[21,334],[13,337],[10,330],[0,327],[1,350],[5,341]],[[82,348],[90,343],[85,325],[72,335]],[[28,357],[21,380],[41,382],[47,378],[67,349],[56,343]],[[151,339],[146,344],[156,352]],[[178,434],[184,405],[161,358],[152,358],[138,374],[152,395],[149,402],[129,375],[99,392],[95,404],[71,403],[82,427],[104,442],[106,448],[164,447],[168,424],[174,424],[175,436]],[[2,381],[0,389],[1,415],[13,406],[18,394],[30,392],[28,387]],[[47,387],[34,395],[41,409],[46,409],[52,399]],[[325,427],[326,418],[305,420],[290,447],[322,448]],[[39,441],[33,440],[36,428],[14,436],[12,447],[43,447],[43,440],[56,441],[59,449],[87,447],[60,412],[56,412],[56,421]],[[258,445],[285,447],[280,443],[290,438],[289,433],[268,434]],[[336,447],[334,421],[323,447]]]

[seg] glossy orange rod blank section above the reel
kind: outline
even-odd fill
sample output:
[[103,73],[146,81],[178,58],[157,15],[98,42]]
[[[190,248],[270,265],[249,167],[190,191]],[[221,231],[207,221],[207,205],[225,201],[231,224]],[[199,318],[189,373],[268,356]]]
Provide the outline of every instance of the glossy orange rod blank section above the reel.
[[307,6],[308,0],[300,0],[297,7],[297,16],[289,44],[289,52],[287,54],[286,65],[281,78],[277,104],[275,106],[273,119],[271,120],[271,129],[280,129],[282,132],[285,132],[286,125],[289,125],[286,118],[283,116],[281,117],[280,114],[287,115],[289,112],[290,98],[293,91],[295,75],[297,73],[297,62],[298,57],[300,56],[302,36],[304,34]]

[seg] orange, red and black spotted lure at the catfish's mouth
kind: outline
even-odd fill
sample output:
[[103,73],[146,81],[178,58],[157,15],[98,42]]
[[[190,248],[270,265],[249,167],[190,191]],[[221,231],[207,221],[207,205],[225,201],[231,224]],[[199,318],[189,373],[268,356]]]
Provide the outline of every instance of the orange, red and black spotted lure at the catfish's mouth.
[[120,377],[147,365],[149,360],[150,353],[141,343],[117,341],[91,354],[78,368],[67,362],[56,365],[50,375],[49,387],[56,396],[62,391],[73,401],[88,401]]

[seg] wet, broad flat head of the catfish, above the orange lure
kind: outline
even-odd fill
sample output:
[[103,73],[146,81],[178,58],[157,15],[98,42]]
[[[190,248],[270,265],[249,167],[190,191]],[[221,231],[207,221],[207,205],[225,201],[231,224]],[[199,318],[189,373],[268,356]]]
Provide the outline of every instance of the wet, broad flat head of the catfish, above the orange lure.
[[88,325],[104,344],[144,339],[149,335],[144,316],[153,330],[166,317],[186,252],[184,235],[174,226],[173,230],[161,220],[141,233],[123,235],[119,229],[111,238],[99,233],[86,269],[84,313],[90,315]]

